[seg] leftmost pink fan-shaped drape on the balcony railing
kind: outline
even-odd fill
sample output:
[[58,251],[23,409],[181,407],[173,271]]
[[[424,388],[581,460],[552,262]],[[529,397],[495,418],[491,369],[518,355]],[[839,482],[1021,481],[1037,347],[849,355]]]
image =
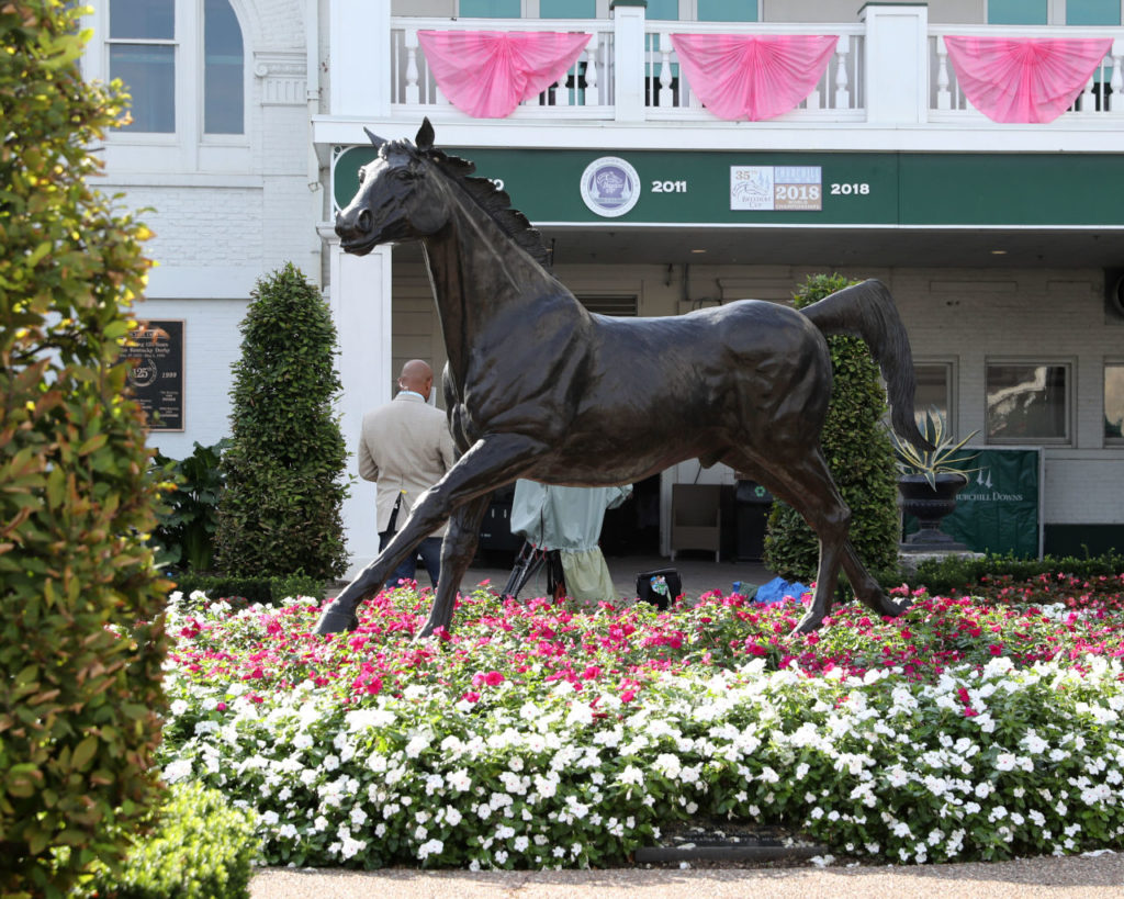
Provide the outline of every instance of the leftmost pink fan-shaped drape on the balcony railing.
[[478,119],[511,115],[565,75],[591,35],[570,31],[418,31],[448,101]]

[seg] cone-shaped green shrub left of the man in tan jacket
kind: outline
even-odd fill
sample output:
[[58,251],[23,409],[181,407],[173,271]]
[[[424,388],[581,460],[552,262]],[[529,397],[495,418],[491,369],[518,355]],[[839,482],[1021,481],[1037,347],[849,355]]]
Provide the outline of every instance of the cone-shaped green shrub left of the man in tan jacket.
[[339,392],[335,326],[292,263],[260,280],[253,296],[230,391],[218,569],[335,576],[347,565],[341,519],[347,453],[332,408]]

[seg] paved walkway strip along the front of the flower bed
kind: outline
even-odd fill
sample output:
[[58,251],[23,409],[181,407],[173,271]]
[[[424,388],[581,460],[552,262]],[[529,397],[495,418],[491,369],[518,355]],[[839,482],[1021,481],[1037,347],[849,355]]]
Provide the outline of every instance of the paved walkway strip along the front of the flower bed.
[[904,868],[372,872],[264,869],[252,899],[1108,899],[1124,855]]

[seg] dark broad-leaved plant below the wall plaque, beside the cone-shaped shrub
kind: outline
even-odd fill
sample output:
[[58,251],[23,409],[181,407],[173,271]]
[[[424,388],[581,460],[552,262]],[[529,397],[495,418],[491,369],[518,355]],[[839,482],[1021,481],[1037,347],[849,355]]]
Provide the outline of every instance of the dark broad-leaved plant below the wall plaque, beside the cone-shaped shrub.
[[174,484],[165,497],[165,508],[157,516],[160,524],[152,534],[160,545],[161,566],[211,570],[218,500],[223,492],[219,462],[228,445],[228,441],[219,441],[214,446],[201,446],[197,442],[187,458],[178,461],[157,453],[153,460],[164,478]]

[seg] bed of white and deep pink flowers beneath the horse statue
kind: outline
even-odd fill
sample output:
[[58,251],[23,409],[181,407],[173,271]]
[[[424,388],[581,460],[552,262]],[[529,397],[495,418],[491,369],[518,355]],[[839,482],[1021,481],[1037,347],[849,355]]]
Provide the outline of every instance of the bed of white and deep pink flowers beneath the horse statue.
[[428,590],[333,637],[312,600],[196,594],[170,612],[164,774],[255,808],[271,864],[608,865],[704,815],[891,862],[1118,846],[1124,578],[1048,581],[797,637],[792,602],[481,589],[422,644]]

